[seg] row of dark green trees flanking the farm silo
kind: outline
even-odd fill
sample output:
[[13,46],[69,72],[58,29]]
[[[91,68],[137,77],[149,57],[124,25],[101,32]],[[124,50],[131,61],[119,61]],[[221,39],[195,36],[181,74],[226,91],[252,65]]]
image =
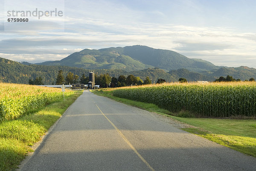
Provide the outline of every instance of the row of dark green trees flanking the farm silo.
[[[62,70],[58,71],[58,75],[56,78],[56,84],[88,84],[89,76],[86,77],[84,74],[79,79],[78,75],[73,74],[72,72],[68,72],[66,78],[64,77],[64,73]],[[163,83],[166,80],[160,78],[157,83]],[[99,85],[99,87],[124,87],[129,85],[143,85],[143,84],[152,84],[152,80],[147,76],[145,80],[142,80],[140,77],[136,77],[134,75],[119,75],[118,78],[111,77],[108,73],[96,75],[95,74],[95,84]]]

